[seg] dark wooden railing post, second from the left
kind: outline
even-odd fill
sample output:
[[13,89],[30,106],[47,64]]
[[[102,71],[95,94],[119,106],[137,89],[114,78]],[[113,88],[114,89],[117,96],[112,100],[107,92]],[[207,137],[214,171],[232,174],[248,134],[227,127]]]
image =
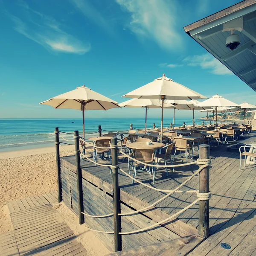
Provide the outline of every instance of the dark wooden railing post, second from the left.
[[74,131],[75,138],[75,154],[76,154],[76,183],[78,197],[78,216],[79,224],[84,224],[84,202],[83,202],[83,187],[82,187],[82,170],[80,166],[80,149],[79,149],[79,131]]

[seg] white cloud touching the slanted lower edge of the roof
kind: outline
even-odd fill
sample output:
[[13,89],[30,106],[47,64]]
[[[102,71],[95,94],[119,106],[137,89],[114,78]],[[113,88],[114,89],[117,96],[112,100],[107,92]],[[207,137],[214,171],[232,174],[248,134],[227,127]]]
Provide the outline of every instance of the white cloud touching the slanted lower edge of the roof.
[[188,66],[201,67],[202,69],[209,70],[210,73],[215,75],[233,75],[227,67],[209,53],[188,56],[184,58],[183,61],[187,63]]

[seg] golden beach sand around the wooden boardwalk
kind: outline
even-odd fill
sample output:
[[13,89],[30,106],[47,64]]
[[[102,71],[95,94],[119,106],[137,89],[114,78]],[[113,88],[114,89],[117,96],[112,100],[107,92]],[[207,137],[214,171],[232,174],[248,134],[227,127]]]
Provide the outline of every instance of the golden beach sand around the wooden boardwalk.
[[[64,146],[73,153],[73,146]],[[60,148],[61,156],[67,155]],[[27,149],[0,153],[0,234],[13,230],[8,201],[57,190],[55,147]],[[79,225],[79,219],[64,204],[55,209],[91,256],[110,253],[95,234]]]

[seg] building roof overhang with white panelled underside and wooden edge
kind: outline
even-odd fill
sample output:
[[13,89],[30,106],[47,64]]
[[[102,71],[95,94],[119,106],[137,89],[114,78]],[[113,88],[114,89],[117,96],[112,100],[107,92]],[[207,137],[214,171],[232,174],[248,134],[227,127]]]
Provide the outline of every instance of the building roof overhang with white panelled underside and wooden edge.
[[[256,0],[244,0],[184,27],[201,46],[256,91]],[[226,47],[231,31],[240,45]]]

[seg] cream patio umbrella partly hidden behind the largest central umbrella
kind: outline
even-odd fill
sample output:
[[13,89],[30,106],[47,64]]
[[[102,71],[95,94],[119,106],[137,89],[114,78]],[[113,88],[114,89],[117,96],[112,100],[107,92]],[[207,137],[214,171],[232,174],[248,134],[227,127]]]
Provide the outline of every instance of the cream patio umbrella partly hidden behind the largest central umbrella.
[[[158,99],[129,99],[119,103],[119,106],[126,108],[145,108],[145,133],[147,132],[147,109],[162,108]],[[167,103],[164,105],[164,108],[174,108],[174,105]]]

